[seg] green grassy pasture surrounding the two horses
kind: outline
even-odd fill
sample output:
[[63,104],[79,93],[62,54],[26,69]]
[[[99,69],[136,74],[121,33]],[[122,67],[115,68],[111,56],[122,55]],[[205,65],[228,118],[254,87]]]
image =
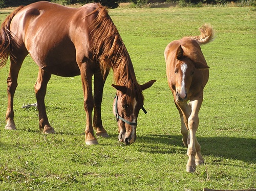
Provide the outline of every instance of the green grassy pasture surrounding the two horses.
[[[2,10],[1,22],[10,12]],[[84,142],[86,114],[80,77],[52,76],[46,108],[56,134],[38,128],[38,113],[23,105],[36,102],[37,65],[28,56],[14,98],[16,131],[7,131],[9,63],[0,70],[0,190],[203,190],[256,188],[256,12],[250,7],[117,8],[110,15],[130,53],[144,91],[137,140],[118,141],[112,113],[115,89],[106,80],[102,121],[110,138]],[[199,35],[210,23],[216,39],[202,46],[210,66],[197,138],[205,164],[186,173],[186,148],[180,119],[168,88],[164,49],[172,40]]]

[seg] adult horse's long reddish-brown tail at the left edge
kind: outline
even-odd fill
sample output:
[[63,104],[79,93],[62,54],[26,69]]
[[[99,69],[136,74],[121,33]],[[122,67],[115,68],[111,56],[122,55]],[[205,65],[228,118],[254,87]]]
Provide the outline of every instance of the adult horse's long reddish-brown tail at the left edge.
[[0,28],[0,68],[6,65],[10,47],[11,47],[11,31],[10,24],[12,18],[17,14],[17,12],[24,6],[19,6],[16,8],[2,23]]

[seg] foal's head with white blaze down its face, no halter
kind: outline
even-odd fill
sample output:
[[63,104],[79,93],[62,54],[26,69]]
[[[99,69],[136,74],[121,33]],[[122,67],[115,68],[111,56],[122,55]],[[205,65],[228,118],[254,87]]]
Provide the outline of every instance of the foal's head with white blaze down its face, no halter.
[[174,68],[175,73],[175,99],[177,102],[187,101],[188,91],[191,86],[192,79],[196,79],[200,70],[208,69],[209,67],[200,60],[193,60],[184,54],[182,46],[179,45],[176,52],[176,64]]

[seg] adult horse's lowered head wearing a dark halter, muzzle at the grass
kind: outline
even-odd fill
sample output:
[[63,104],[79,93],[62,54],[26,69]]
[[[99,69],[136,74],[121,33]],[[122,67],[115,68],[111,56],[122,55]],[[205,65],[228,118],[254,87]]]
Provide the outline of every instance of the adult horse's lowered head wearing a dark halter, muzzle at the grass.
[[155,81],[151,80],[143,85],[139,85],[140,90],[112,84],[117,89],[113,103],[113,113],[118,123],[118,139],[125,145],[130,145],[136,140],[139,110],[143,109],[146,112],[143,108],[142,91],[151,87]]

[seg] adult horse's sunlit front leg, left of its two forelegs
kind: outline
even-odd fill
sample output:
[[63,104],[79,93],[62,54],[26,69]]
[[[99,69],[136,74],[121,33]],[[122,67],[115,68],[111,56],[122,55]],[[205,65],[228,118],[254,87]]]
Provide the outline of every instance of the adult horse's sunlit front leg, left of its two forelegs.
[[92,76],[93,73],[90,69],[86,68],[86,63],[80,66],[81,81],[83,87],[83,100],[84,100],[84,110],[86,111],[86,144],[96,145],[98,144],[97,139],[93,134],[92,125],[92,111],[94,107],[93,94],[92,94]]

